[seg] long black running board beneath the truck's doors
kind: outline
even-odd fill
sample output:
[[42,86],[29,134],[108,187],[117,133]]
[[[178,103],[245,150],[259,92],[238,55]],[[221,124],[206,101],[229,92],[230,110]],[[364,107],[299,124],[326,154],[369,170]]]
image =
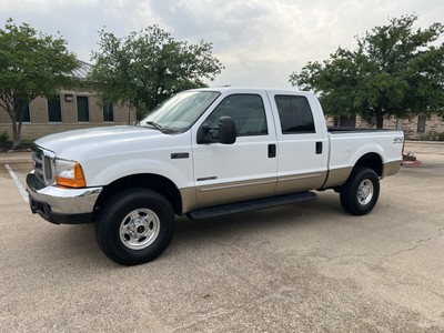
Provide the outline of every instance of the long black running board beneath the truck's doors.
[[263,198],[251,201],[235,202],[222,205],[215,205],[204,209],[199,209],[188,213],[190,219],[210,219],[220,215],[234,213],[243,213],[255,210],[273,208],[283,204],[312,202],[317,200],[317,194],[313,192],[300,192],[294,194]]

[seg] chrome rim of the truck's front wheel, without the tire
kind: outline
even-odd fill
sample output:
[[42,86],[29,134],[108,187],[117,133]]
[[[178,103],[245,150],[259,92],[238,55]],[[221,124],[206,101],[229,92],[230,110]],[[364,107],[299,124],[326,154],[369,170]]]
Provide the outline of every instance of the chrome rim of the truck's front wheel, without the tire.
[[149,209],[137,209],[122,220],[119,235],[128,249],[142,250],[155,241],[159,231],[159,216]]

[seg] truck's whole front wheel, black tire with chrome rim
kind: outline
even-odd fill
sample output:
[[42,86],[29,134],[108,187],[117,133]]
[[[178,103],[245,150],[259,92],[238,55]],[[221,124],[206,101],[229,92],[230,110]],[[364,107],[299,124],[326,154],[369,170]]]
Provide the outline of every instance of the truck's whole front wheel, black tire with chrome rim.
[[121,192],[101,209],[95,239],[103,253],[122,265],[158,258],[170,244],[174,212],[165,198],[148,189]]

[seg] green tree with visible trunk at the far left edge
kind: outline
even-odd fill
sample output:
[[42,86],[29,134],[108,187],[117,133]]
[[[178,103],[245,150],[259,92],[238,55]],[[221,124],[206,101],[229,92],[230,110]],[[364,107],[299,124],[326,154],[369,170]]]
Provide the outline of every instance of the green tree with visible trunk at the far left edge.
[[12,123],[12,149],[20,145],[23,113],[37,97],[51,98],[72,84],[79,67],[62,38],[37,32],[9,19],[0,29],[0,109]]

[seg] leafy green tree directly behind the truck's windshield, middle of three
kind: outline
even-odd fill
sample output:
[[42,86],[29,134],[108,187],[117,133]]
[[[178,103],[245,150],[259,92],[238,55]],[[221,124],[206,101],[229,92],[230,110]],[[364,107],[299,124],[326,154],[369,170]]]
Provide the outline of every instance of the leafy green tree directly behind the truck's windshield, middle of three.
[[158,26],[125,39],[99,33],[100,51],[92,53],[90,79],[103,101],[129,102],[138,119],[178,91],[206,87],[203,79],[213,80],[223,69],[211,43],[176,41]]

